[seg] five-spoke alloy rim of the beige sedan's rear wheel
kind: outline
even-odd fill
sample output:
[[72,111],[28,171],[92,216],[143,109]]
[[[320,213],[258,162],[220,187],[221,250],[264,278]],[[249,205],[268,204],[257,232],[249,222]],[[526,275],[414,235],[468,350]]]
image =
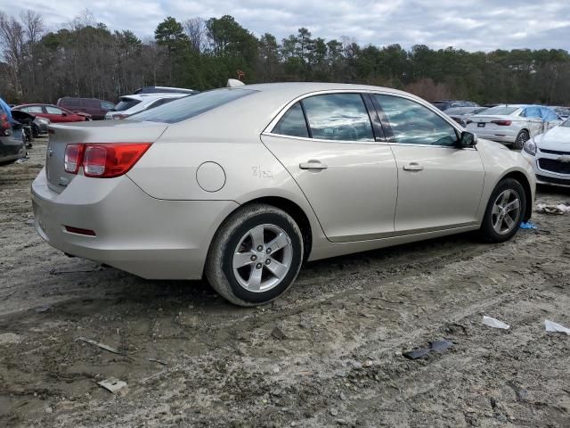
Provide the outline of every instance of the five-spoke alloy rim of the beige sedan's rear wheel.
[[292,260],[293,245],[281,227],[255,226],[233,251],[233,275],[249,292],[266,292],[287,276]]

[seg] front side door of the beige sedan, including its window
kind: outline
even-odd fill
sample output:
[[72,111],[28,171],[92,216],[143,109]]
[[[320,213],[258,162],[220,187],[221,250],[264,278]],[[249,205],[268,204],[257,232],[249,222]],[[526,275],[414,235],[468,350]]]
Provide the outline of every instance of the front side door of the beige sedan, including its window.
[[475,225],[485,169],[475,147],[435,109],[399,95],[373,95],[398,169],[396,235]]

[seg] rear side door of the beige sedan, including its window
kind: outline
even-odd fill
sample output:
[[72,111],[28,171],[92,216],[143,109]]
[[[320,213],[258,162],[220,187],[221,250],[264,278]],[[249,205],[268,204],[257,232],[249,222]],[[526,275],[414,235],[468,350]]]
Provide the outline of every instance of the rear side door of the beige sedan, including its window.
[[306,96],[262,135],[314,209],[332,242],[394,235],[395,159],[371,125],[368,95]]

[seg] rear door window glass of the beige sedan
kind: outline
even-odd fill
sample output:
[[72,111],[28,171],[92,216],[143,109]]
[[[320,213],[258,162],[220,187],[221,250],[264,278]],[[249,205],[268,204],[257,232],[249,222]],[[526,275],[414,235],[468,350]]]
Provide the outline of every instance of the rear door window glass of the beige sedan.
[[313,138],[374,141],[371,119],[360,94],[314,95],[303,100]]

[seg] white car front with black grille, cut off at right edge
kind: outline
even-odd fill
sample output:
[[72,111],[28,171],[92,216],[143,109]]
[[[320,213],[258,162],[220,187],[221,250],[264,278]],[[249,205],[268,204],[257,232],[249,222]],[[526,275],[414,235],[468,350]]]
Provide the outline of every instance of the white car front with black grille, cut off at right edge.
[[537,183],[570,187],[570,119],[528,140],[523,156],[533,166]]

